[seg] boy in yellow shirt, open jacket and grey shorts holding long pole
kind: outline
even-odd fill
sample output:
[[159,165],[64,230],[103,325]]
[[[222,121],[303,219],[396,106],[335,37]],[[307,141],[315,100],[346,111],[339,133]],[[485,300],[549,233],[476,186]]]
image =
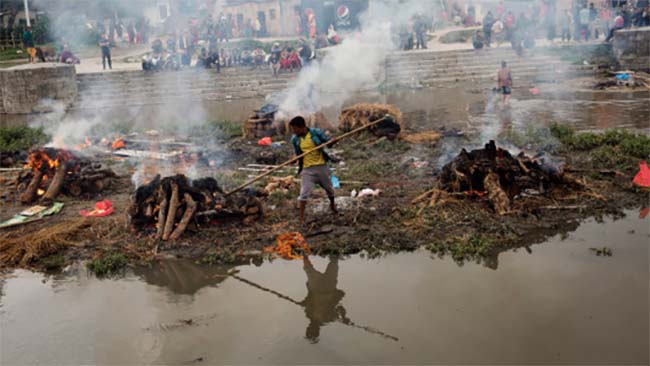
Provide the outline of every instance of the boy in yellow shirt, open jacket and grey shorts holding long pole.
[[[321,130],[317,128],[307,128],[305,119],[303,117],[295,117],[289,122],[289,126],[294,135],[291,137],[291,145],[296,152],[300,155],[304,152],[313,150],[319,145],[322,145],[330,138],[327,137]],[[300,184],[300,223],[305,223],[305,207],[311,191],[316,184],[320,185],[327,193],[327,198],[330,200],[330,210],[336,214],[336,203],[334,202],[334,186],[332,185],[332,177],[327,162],[330,160],[329,155],[322,149],[312,151],[298,161],[298,174],[301,177]]]

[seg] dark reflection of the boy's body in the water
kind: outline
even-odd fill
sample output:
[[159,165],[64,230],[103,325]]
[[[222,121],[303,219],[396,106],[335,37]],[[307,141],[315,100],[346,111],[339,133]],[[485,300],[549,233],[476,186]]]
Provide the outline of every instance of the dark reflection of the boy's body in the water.
[[303,259],[303,269],[307,274],[307,297],[300,303],[305,307],[309,319],[305,337],[310,342],[318,342],[321,326],[345,318],[345,309],[339,302],[345,292],[336,288],[338,283],[339,261],[330,259],[324,273],[318,272],[307,256]]

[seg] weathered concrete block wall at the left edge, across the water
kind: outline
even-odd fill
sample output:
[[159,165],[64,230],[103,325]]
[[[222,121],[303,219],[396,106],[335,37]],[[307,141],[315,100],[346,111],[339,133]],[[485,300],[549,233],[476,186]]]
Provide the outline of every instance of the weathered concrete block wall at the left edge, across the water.
[[51,112],[76,98],[74,66],[39,63],[0,70],[0,114]]

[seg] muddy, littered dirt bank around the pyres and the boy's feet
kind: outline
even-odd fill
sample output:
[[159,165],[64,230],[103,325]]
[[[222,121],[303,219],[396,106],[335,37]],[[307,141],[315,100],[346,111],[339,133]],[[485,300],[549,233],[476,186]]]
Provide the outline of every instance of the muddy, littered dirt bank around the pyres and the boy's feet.
[[[580,151],[560,144],[547,149],[566,162],[572,174],[586,183],[588,191],[563,189],[520,197],[513,202],[512,211],[503,216],[496,215],[485,198],[446,197],[433,207],[428,207],[427,202],[413,204],[414,198],[435,186],[445,154],[451,150],[454,157],[460,152],[456,147],[468,146],[471,139],[450,135],[438,142],[414,145],[366,134],[344,140],[333,149],[343,162],[335,165],[335,174],[342,182],[337,190],[339,215],[328,212],[324,192],[319,189],[309,203],[307,224],[301,226],[296,184],[287,193],[263,198],[263,220],[251,225],[212,220],[209,225],[188,229],[176,242],[162,242],[151,232],[129,229],[126,212],[134,191],[134,167],[106,156],[101,159],[120,176],[108,190],[83,199],[60,197],[58,201],[64,202],[65,208],[59,214],[0,232],[0,242],[29,241],[47,235],[53,227],[71,228],[55,238],[56,244],[40,256],[22,262],[5,260],[3,267],[49,270],[116,252],[123,253],[131,264],[166,256],[208,264],[236,263],[269,258],[263,249],[273,245],[278,235],[294,231],[304,235],[316,255],[363,252],[373,257],[426,247],[435,255],[451,255],[459,263],[473,260],[495,267],[502,251],[566,235],[589,217],[622,215],[623,209],[641,210],[650,201],[648,190],[631,183],[638,159],[621,155],[618,160],[596,160],[598,151]],[[226,191],[255,174],[238,168],[249,163],[277,164],[292,155],[287,144],[281,148],[262,147],[241,138],[225,143],[232,155],[218,169],[202,168],[202,176],[215,176]],[[13,179],[11,173],[0,176],[0,194],[5,198],[1,203],[3,220],[27,207],[17,203]],[[262,180],[258,187],[265,184]],[[381,193],[351,197],[353,190],[363,188],[379,189]],[[89,219],[79,215],[79,210],[92,209],[95,202],[106,198],[115,207],[111,216]]]

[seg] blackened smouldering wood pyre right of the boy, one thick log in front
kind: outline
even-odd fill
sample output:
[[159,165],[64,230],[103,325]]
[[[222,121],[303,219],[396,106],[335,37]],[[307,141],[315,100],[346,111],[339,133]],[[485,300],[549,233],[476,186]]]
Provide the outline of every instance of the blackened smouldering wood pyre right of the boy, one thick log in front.
[[512,210],[513,200],[522,195],[545,196],[558,190],[590,191],[586,183],[563,171],[561,164],[544,155],[529,157],[510,152],[490,141],[483,149],[460,154],[442,168],[436,188],[413,203],[429,200],[434,206],[447,196],[487,199],[499,215]]

